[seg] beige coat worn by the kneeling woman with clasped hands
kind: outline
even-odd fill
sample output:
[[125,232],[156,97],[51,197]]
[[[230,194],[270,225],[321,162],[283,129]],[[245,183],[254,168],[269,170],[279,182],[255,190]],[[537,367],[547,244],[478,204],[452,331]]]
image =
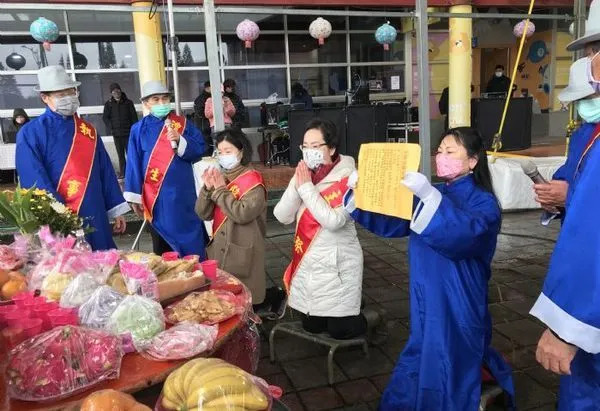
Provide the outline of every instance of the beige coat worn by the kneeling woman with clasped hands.
[[[237,166],[225,173],[227,183],[248,167]],[[239,278],[252,292],[252,303],[265,299],[265,234],[267,227],[267,195],[264,187],[250,190],[240,200],[225,187],[207,190],[202,187],[196,213],[212,220],[215,204],[227,216],[225,224],[214,233],[206,248],[208,258],[219,261],[219,267]],[[216,229],[216,227],[214,227]]]

